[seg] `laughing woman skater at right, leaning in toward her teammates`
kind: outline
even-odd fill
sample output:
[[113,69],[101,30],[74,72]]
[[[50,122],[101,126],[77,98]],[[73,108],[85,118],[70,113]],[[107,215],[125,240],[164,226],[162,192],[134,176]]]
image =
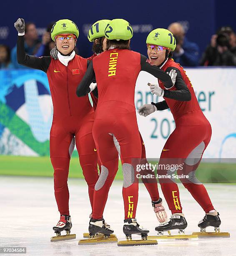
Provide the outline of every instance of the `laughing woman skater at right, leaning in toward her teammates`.
[[[158,84],[151,84],[151,93],[162,96],[164,101],[143,105],[138,113],[146,117],[157,110],[170,108],[176,128],[163,147],[159,165],[183,164],[181,168],[177,168],[180,177],[181,174],[185,175],[180,180],[206,213],[198,227],[205,232],[206,227],[213,226],[215,231],[219,232],[219,214],[214,209],[206,188],[195,176],[203,152],[211,139],[211,125],[199,107],[186,72],[171,59],[171,51],[176,47],[173,34],[167,29],[157,28],[149,33],[146,43],[149,62],[166,73],[176,72],[177,77],[174,86],[171,87],[164,85],[160,80]],[[158,174],[165,175],[168,172],[158,168]],[[160,225],[156,230],[161,234],[173,229],[179,229],[179,232],[184,233],[187,222],[182,212],[178,186],[168,178],[161,178],[159,182],[172,215],[166,225]]]

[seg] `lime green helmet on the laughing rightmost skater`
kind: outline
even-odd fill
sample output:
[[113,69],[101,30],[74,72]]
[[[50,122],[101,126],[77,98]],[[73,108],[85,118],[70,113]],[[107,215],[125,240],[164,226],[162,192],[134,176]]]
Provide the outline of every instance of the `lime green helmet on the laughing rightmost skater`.
[[171,31],[165,28],[156,28],[151,31],[147,37],[146,43],[168,47],[171,51],[176,49],[176,38]]

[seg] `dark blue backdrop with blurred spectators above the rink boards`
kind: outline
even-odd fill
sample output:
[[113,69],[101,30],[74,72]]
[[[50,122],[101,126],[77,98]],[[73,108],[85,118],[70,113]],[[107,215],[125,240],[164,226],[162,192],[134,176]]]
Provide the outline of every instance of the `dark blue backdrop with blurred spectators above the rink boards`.
[[54,43],[50,30],[56,20],[73,20],[79,28],[76,53],[92,55],[87,33],[100,19],[124,18],[131,23],[131,49],[146,54],[146,37],[155,28],[168,28],[176,37],[173,59],[183,67],[236,66],[236,1],[221,0],[143,2],[137,0],[37,2],[24,0],[1,3],[0,69],[23,69],[16,59],[17,31],[14,22],[26,23],[25,51],[30,55],[48,56]]

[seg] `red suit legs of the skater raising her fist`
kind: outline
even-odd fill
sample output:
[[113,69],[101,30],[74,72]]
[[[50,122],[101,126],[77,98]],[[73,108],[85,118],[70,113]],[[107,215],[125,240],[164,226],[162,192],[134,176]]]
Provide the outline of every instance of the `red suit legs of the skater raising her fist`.
[[92,136],[93,113],[84,118],[65,117],[53,119],[50,132],[50,159],[54,169],[55,198],[60,215],[69,215],[68,173],[70,156],[75,142],[80,156],[80,165],[88,183],[91,205],[93,192],[98,180],[97,154]]

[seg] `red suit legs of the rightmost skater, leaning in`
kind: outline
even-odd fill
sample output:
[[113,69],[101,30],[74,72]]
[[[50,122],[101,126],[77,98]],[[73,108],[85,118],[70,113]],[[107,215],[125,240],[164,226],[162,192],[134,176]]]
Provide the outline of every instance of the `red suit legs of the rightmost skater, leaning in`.
[[[191,118],[194,118],[194,116],[190,116],[189,118],[191,120]],[[191,156],[191,154],[194,155],[197,152],[198,159],[201,159],[203,151],[208,145],[210,138],[211,125],[207,120],[206,122],[203,120],[203,123],[200,123],[199,125],[178,125],[178,123],[176,123],[176,129],[166,141],[166,144],[161,153],[161,158],[158,165],[158,174],[163,175],[167,173],[166,171],[159,169],[160,165],[166,164],[184,163],[183,166],[185,166],[185,172],[187,172],[188,168],[186,167],[186,159],[188,156]],[[204,146],[201,149],[201,145],[203,145],[203,143]],[[195,167],[197,168],[198,165]],[[180,173],[180,171],[178,173]],[[172,173],[168,171],[168,174]],[[182,212],[177,184],[171,179],[159,179],[159,182],[172,214]],[[188,183],[189,182],[191,184],[184,183],[184,186],[186,186],[186,188],[191,192],[201,207],[203,207],[203,209],[213,210],[214,208],[211,204],[211,200],[206,192],[205,187],[202,184],[194,184],[191,180],[188,181]],[[198,196],[198,193],[200,196]]]

